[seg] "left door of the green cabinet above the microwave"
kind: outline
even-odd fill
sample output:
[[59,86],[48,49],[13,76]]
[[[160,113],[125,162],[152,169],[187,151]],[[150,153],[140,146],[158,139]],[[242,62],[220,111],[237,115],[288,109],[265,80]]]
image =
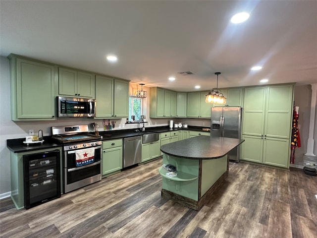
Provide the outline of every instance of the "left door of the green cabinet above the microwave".
[[68,68],[58,68],[58,94],[77,95],[77,71]]

